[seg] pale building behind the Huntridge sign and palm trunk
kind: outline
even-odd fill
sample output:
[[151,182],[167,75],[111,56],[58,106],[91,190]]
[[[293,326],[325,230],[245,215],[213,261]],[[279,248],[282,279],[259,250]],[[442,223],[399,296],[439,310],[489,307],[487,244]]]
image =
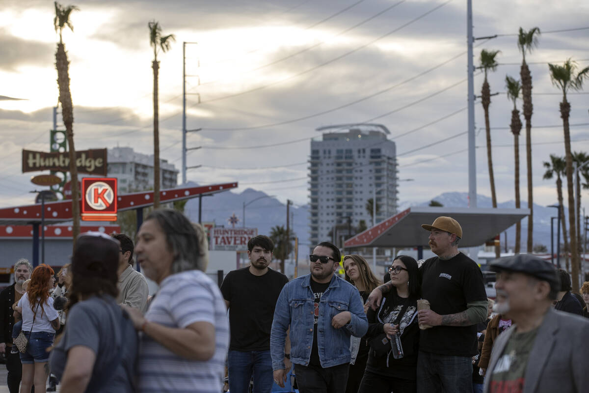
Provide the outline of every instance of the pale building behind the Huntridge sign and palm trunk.
[[[131,147],[108,149],[108,176],[117,177],[118,192],[131,193],[153,189],[153,154],[136,153]],[[162,189],[178,185],[178,170],[174,164],[160,159]]]

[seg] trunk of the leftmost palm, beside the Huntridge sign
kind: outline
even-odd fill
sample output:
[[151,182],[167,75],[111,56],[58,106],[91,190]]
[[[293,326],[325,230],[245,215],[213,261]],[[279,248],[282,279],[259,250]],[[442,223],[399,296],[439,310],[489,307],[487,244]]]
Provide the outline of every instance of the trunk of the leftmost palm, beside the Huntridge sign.
[[76,166],[74,147],[74,107],[70,94],[70,74],[68,68],[70,62],[65,53],[64,44],[57,44],[55,53],[55,67],[57,67],[57,84],[59,86],[59,102],[61,103],[61,115],[64,120],[65,134],[68,140],[68,153],[70,157],[70,177],[72,187],[72,240],[73,249],[80,234],[80,187],[78,187],[78,168]]

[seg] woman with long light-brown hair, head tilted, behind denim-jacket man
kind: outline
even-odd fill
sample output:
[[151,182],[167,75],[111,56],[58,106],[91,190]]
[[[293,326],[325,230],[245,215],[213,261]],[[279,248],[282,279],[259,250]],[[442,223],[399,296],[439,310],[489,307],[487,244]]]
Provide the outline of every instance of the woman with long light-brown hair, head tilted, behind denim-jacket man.
[[[366,303],[370,292],[380,285],[379,280],[372,273],[372,270],[370,270],[366,259],[356,254],[346,255],[343,257],[343,269],[345,271],[346,281],[358,288],[360,296],[362,296],[362,302]],[[364,312],[367,309],[368,306],[365,305]],[[364,369],[366,368],[366,361],[368,361],[369,349],[370,346],[364,337],[362,339],[352,337],[352,359],[350,360],[346,393],[358,392],[360,381],[362,381]]]

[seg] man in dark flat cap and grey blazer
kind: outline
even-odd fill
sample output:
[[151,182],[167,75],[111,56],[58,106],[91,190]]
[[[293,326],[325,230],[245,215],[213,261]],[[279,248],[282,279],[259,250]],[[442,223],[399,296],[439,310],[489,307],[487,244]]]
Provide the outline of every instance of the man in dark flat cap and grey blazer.
[[490,268],[497,272],[495,311],[515,324],[495,341],[485,392],[587,392],[589,322],[552,308],[560,290],[554,266],[517,255]]

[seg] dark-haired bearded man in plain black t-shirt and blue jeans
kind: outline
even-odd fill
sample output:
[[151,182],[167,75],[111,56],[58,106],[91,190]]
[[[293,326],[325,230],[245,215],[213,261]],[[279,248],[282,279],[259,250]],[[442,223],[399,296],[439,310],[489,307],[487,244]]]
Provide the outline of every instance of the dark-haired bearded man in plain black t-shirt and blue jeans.
[[[227,362],[231,393],[246,393],[252,375],[254,392],[272,391],[270,328],[276,299],[289,281],[285,275],[268,267],[273,249],[274,243],[269,237],[252,237],[247,242],[250,266],[229,272],[221,284],[221,293],[229,309],[231,341]],[[284,361],[290,362],[289,357],[289,348],[286,348]]]

